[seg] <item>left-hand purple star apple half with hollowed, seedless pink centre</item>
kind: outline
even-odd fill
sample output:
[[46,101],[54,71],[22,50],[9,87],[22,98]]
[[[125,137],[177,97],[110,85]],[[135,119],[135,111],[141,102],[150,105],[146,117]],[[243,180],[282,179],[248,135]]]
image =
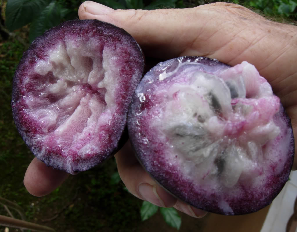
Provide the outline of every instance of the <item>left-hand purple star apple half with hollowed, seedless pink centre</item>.
[[116,26],[73,20],[35,39],[15,72],[13,117],[48,166],[77,173],[119,147],[143,53]]

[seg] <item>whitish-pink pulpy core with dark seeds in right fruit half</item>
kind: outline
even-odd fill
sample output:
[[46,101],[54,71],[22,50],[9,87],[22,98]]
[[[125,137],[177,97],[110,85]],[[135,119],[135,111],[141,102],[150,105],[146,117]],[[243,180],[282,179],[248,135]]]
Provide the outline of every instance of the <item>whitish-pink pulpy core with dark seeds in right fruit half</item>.
[[[173,62],[169,69],[154,70],[159,85],[152,77],[137,90],[138,124],[149,120],[149,130],[157,131],[153,141],[166,141],[157,145],[167,147],[166,162],[199,178],[201,185],[219,181],[230,188],[239,178],[261,175],[266,143],[281,131],[274,118],[280,101],[268,82],[248,62],[212,73],[199,70],[195,61]],[[149,140],[143,138],[154,145]]]

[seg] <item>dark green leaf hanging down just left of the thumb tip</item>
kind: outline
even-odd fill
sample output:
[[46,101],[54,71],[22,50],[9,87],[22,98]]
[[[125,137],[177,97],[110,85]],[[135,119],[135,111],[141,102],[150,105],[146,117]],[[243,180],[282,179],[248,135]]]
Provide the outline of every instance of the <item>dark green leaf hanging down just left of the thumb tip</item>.
[[57,2],[53,1],[40,13],[40,17],[32,22],[29,32],[30,43],[36,37],[42,35],[46,30],[57,26],[60,23],[61,9]]

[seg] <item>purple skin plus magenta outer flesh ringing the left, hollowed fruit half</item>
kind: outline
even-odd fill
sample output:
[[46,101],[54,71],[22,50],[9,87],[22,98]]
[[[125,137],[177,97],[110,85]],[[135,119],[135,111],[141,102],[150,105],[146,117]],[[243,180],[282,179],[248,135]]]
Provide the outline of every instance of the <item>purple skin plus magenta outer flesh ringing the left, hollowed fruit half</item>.
[[[100,140],[100,143],[97,144],[97,151],[90,150],[89,153],[87,152],[83,156],[78,155],[78,150],[83,145],[88,144],[88,139],[83,139],[83,144],[73,143],[66,154],[63,151],[63,146],[58,145],[56,136],[53,134],[55,128],[48,129],[46,139],[42,139],[40,142],[32,142],[34,136],[44,134],[42,131],[43,125],[40,121],[30,118],[30,115],[24,111],[24,109],[28,108],[23,100],[24,97],[31,95],[31,93],[35,94],[34,98],[38,96],[36,87],[41,84],[48,84],[45,76],[50,76],[50,73],[43,76],[36,73],[33,67],[38,61],[46,60],[47,52],[51,48],[55,48],[57,43],[65,44],[65,37],[73,38],[73,41],[81,39],[82,43],[86,43],[90,38],[95,39],[99,45],[94,46],[92,52],[98,55],[101,54],[101,56],[105,47],[120,51],[117,53],[117,58],[119,58],[117,62],[121,68],[119,70],[121,76],[118,79],[120,87],[117,87],[114,95],[117,107],[110,113],[113,118],[109,123],[99,125],[99,134],[91,135],[93,140]],[[126,31],[112,24],[98,20],[72,20],[48,30],[36,38],[23,54],[13,79],[11,104],[14,121],[20,135],[34,155],[47,166],[71,174],[96,166],[115,153],[120,145],[123,145],[123,139],[120,141],[120,138],[126,126],[128,106],[132,93],[143,75],[143,68],[144,57],[140,46]],[[87,83],[79,86],[78,88],[84,91],[85,94],[95,94],[97,99],[105,102],[104,91],[99,93],[97,89],[92,88]],[[45,152],[43,151],[44,155],[40,156],[42,149],[45,149]]]

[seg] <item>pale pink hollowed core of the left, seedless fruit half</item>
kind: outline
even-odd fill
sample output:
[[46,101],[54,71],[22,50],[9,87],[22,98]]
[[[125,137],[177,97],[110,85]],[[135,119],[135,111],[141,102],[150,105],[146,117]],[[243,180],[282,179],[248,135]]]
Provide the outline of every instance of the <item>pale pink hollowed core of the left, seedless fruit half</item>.
[[[121,113],[116,91],[126,65],[117,47],[92,37],[87,41],[66,37],[35,60],[29,78],[23,80],[26,93],[21,105],[23,120],[34,128],[33,134],[23,136],[36,146],[37,157],[50,151],[60,153],[61,159],[86,158],[99,152],[98,142],[110,142],[105,125],[112,128]],[[77,158],[69,157],[69,165],[73,159]],[[73,173],[72,167],[67,170]]]

